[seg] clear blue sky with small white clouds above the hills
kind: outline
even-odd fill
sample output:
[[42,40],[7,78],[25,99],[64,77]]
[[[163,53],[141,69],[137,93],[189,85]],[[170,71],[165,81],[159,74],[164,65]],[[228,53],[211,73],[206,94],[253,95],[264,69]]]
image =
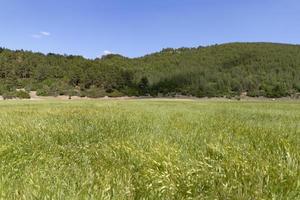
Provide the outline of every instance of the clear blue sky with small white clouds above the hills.
[[228,42],[300,44],[299,0],[0,0],[0,46],[96,58]]

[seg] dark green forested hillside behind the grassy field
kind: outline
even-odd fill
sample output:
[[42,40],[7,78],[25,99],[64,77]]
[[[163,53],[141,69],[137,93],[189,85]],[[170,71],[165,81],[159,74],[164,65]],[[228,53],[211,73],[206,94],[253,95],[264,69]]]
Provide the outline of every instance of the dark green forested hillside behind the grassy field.
[[0,95],[248,96],[300,92],[300,46],[231,43],[101,59],[0,49]]

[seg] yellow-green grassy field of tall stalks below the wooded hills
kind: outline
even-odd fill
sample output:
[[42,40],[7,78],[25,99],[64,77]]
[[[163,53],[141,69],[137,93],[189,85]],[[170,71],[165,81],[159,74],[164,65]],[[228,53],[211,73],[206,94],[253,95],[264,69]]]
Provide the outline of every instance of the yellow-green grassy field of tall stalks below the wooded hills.
[[300,102],[0,102],[1,199],[300,199]]

